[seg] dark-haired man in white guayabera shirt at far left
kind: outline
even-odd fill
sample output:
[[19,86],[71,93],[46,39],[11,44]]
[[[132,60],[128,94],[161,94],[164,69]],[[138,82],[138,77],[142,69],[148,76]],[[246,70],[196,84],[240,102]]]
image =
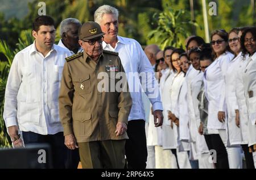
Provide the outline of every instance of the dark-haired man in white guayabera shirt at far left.
[[5,91],[3,119],[14,147],[48,143],[53,168],[64,168],[63,126],[59,119],[59,88],[65,57],[71,53],[55,45],[54,20],[39,16],[32,24],[35,41],[18,52]]

